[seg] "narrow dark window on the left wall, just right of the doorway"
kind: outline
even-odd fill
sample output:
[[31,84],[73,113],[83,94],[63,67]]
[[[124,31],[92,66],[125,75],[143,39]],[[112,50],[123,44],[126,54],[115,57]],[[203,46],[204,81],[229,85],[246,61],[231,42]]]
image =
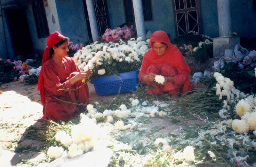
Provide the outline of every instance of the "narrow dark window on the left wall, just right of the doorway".
[[36,21],[36,31],[38,38],[46,38],[49,36],[49,28],[44,10],[43,0],[35,0],[32,3],[34,18]]

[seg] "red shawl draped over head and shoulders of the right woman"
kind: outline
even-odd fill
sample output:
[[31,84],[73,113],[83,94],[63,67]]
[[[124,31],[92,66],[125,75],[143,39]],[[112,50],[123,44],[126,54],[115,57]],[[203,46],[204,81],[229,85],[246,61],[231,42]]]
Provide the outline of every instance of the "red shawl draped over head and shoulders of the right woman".
[[[152,42],[164,42],[168,48],[165,53],[161,56],[157,55],[151,45]],[[185,58],[180,53],[180,50],[177,49],[176,46],[172,45],[168,35],[164,31],[156,31],[154,32],[149,40],[149,49],[143,57],[143,62],[141,65],[140,80],[145,75],[145,72],[149,65],[151,64],[169,64],[177,71],[183,70],[186,71],[187,79],[185,83],[182,85],[182,93],[186,93],[189,89],[192,88],[190,81],[188,79],[188,74],[191,72],[188,64],[185,62]]]

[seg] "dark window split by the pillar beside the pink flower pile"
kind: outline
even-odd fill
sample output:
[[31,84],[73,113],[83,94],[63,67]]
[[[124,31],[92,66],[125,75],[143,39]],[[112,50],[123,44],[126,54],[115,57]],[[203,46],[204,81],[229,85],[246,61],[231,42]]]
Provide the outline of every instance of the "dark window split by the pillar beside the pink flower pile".
[[[134,23],[132,0],[123,0],[126,22]],[[151,0],[142,0],[143,16],[145,21],[153,20]]]

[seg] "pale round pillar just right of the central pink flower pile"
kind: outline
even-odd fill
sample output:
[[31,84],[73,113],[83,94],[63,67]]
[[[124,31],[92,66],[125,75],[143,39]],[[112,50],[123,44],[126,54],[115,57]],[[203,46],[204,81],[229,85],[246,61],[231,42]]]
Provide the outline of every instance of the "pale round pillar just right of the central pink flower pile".
[[142,2],[141,0],[132,0],[132,3],[133,3],[137,36],[142,37],[142,39],[146,39]]

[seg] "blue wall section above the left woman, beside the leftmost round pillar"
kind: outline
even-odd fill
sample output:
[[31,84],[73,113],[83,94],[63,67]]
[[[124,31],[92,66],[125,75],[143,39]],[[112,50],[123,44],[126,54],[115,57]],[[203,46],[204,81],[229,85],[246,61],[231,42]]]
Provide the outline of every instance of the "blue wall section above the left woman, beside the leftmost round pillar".
[[[76,43],[87,42],[88,31],[82,0],[55,0],[60,21],[60,31]],[[48,1],[49,2],[49,1]],[[90,28],[90,27],[88,27]],[[79,42],[78,42],[79,40]]]

